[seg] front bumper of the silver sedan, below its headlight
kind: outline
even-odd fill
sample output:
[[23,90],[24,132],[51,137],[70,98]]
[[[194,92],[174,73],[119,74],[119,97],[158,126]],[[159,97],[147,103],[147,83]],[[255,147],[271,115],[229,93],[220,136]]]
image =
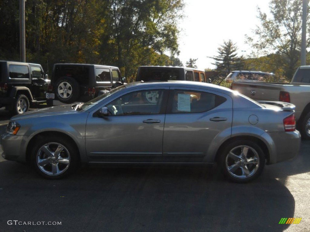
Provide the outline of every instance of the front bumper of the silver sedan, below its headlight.
[[29,136],[10,135],[4,133],[1,135],[2,157],[6,160],[26,162],[26,142]]

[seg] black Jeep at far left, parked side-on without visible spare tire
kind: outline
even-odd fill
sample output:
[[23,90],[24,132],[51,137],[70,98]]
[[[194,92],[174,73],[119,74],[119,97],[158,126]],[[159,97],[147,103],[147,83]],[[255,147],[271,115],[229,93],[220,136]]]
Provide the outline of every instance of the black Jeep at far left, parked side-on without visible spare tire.
[[22,114],[29,104],[45,103],[49,83],[39,64],[0,61],[0,107]]

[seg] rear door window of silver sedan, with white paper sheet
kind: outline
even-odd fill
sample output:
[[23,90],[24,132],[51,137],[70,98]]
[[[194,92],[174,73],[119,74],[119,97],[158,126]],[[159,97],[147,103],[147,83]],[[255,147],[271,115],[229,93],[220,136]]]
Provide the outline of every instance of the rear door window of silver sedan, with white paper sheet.
[[172,113],[199,113],[215,108],[226,98],[208,92],[174,90]]

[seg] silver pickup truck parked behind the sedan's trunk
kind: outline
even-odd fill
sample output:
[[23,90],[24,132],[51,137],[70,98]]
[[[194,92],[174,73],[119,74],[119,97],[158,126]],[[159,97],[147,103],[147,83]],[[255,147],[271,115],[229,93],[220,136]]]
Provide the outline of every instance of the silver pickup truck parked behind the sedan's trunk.
[[310,66],[299,67],[290,83],[233,81],[230,88],[255,101],[283,101],[296,106],[297,129],[310,140]]

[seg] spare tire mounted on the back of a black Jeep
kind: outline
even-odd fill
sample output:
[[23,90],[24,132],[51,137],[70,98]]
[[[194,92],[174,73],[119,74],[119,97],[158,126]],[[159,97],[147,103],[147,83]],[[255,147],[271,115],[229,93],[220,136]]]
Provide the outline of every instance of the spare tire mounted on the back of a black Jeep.
[[78,82],[69,76],[58,79],[55,90],[59,101],[64,103],[73,103],[79,96]]

